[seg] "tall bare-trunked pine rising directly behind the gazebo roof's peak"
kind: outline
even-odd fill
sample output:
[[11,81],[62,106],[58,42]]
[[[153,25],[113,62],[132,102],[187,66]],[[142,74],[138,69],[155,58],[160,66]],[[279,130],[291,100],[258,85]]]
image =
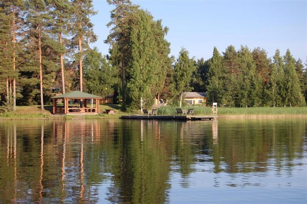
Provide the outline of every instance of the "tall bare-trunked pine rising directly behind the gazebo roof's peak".
[[72,48],[78,48],[78,54],[76,54],[76,61],[79,64],[80,72],[80,91],[83,91],[83,71],[82,60],[84,52],[89,49],[89,43],[93,43],[97,40],[97,36],[94,34],[93,24],[90,17],[97,12],[94,11],[92,0],[73,0],[73,15],[72,15]]

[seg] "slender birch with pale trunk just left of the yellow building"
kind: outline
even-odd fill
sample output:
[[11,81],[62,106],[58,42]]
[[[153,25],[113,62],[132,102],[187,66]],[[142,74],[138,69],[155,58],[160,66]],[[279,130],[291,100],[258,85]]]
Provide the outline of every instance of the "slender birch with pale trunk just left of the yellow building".
[[174,66],[172,90],[175,96],[179,97],[179,106],[182,105],[184,91],[191,91],[192,74],[196,69],[196,64],[189,58],[188,51],[184,48],[179,52],[179,57]]

